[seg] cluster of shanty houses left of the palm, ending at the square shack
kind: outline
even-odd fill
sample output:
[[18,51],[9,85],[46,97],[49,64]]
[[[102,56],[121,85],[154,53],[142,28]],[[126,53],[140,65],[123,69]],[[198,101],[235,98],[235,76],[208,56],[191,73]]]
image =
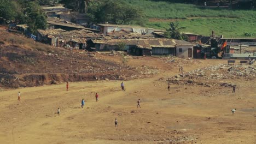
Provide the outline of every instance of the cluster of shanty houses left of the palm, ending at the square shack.
[[[164,31],[128,25],[97,24],[86,28],[68,21],[69,9],[46,7],[48,29],[38,29],[36,40],[57,47],[73,47],[95,51],[117,50],[125,44],[125,51],[137,56],[173,55],[193,57],[193,43],[162,38]],[[60,17],[65,17],[61,19]],[[86,23],[86,20],[81,20]],[[80,21],[80,22],[81,22]],[[196,36],[194,35],[193,39]]]

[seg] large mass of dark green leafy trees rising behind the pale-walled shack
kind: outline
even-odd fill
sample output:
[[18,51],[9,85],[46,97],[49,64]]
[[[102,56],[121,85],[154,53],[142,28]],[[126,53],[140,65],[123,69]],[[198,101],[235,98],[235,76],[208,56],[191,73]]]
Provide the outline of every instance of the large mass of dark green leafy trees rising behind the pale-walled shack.
[[146,15],[141,9],[131,7],[120,0],[61,0],[66,7],[74,9],[98,23],[144,25]]

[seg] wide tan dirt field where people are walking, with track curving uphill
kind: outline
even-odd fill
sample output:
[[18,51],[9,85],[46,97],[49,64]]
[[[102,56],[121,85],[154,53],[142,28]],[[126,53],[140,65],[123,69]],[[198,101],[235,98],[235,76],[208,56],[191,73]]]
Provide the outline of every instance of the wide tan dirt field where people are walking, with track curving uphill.
[[[125,92],[120,89],[121,81],[71,82],[69,91],[63,83],[0,92],[0,142],[256,143],[254,79],[222,80],[235,83],[236,93],[230,87],[174,84],[168,92],[167,82],[159,79],[179,74],[178,68],[160,61],[131,59],[129,64],[151,64],[161,72],[125,81]],[[200,60],[184,70],[219,63],[226,61]],[[17,100],[19,91],[21,101]],[[97,103],[95,92],[99,94]],[[141,109],[136,108],[138,99]]]

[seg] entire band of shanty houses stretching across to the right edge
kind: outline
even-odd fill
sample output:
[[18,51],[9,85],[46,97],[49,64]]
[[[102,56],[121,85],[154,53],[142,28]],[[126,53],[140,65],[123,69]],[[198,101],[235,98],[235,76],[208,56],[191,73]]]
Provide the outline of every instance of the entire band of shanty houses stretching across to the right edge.
[[[166,39],[165,30],[130,25],[97,23],[89,25],[83,14],[75,14],[63,6],[43,7],[48,27],[35,35],[27,32],[27,25],[15,29],[39,42],[68,49],[88,51],[121,50],[136,56],[177,56],[180,58],[256,58],[255,38],[224,38],[184,32],[188,41]],[[89,27],[90,26],[90,27]],[[10,26],[10,31],[13,26]]]

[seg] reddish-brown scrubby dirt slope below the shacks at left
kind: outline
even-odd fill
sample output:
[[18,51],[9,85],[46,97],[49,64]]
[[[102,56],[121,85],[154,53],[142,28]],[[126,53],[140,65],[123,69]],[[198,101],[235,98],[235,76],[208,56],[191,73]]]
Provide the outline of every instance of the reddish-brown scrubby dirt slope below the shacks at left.
[[157,73],[154,68],[123,64],[121,55],[114,57],[113,61],[98,53],[50,47],[0,29],[0,87],[33,87],[100,79],[129,80]]

